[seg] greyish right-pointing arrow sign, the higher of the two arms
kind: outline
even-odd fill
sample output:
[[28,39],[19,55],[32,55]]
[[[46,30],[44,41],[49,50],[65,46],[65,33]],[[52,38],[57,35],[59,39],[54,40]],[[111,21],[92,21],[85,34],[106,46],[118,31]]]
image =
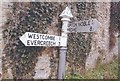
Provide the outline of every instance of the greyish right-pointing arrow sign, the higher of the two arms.
[[69,32],[95,32],[100,27],[100,22],[97,19],[84,20],[73,22],[70,24]]

